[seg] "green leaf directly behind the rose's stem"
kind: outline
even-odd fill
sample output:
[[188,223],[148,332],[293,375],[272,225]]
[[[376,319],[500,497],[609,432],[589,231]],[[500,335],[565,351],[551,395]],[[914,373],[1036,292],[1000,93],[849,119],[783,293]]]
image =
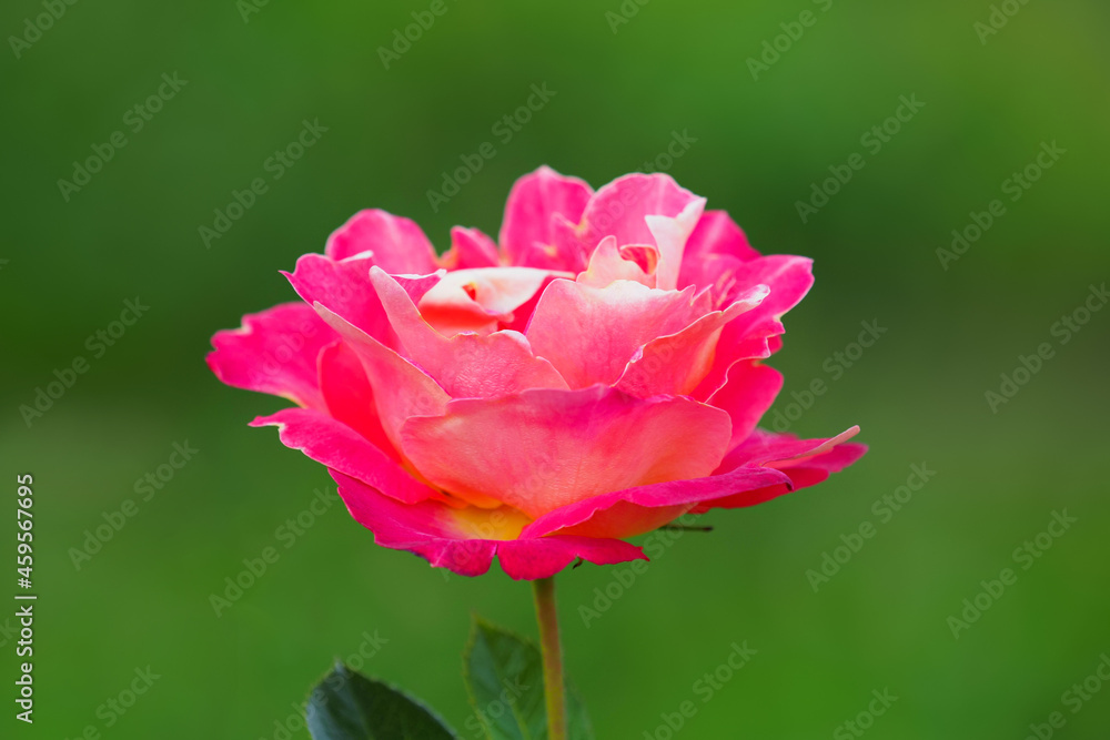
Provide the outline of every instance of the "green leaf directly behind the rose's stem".
[[[467,728],[481,729],[488,740],[546,740],[544,669],[531,640],[475,618],[463,672],[475,712]],[[569,739],[593,740],[585,707],[569,682],[566,703]]]

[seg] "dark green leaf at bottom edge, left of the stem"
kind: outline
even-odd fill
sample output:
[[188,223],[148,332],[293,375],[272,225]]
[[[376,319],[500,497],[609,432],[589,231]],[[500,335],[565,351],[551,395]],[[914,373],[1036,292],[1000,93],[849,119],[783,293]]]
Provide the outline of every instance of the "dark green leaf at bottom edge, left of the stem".
[[309,698],[314,740],[457,740],[427,707],[342,662]]

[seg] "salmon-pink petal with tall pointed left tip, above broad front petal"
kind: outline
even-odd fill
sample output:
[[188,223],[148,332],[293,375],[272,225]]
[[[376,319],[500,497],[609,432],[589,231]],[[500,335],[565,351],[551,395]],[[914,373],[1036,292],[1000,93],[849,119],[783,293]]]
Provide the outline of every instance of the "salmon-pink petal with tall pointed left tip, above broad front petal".
[[381,268],[371,281],[405,356],[453,398],[504,396],[526,388],[566,388],[552,364],[532,354],[517,332],[445,337],[421,317],[405,290]]

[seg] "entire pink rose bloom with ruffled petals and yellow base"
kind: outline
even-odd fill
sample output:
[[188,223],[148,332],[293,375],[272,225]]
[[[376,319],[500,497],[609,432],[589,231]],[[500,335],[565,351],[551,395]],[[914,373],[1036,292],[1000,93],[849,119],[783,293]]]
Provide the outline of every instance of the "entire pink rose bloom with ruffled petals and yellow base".
[[362,211],[285,273],[303,302],[219,332],[229,385],[296,404],[253,426],[327,466],[379,545],[476,576],[578,558],[687,513],[811,486],[865,452],[756,428],[764,365],[811,263],[763,256],[664,174],[594,191],[548,168],[513,187],[497,243]]

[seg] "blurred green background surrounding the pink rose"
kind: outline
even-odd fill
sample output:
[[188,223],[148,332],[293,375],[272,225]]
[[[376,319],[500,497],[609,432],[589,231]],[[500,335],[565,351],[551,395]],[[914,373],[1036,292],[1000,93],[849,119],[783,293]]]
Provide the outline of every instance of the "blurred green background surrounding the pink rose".
[[[474,737],[470,612],[535,631],[527,585],[496,566],[445,579],[335,506],[214,615],[210,594],[331,479],[246,427],[283,403],[218,383],[209,337],[292,300],[278,271],[359,209],[411,216],[444,249],[453,224],[496,233],[514,179],[539,164],[598,186],[667,165],[656,158],[686,132],[696,142],[668,165],[682,184],[761,251],[816,260],[771,361],[787,378],[776,409],[823,378],[790,430],[859,424],[871,452],[819,488],[710,515],[715,531],[664,548],[627,587],[612,568],[559,576],[568,670],[598,737],[653,737],[686,699],[692,740],[855,737],[842,723],[884,689],[898,699],[869,737],[1018,739],[1054,711],[1056,737],[1107,737],[1110,686],[1076,713],[1063,695],[1110,651],[1110,311],[1067,344],[1051,333],[1110,277],[1106,4],[1013,2],[982,43],[987,2],[447,0],[385,69],[379,48],[428,4],[270,2],[244,21],[234,0],[79,2],[28,47],[9,38],[0,439],[9,511],[16,474],[34,475],[40,601],[37,721],[11,717],[6,668],[0,734],[280,739],[332,658],[376,631],[387,642],[364,670]],[[754,79],[748,60],[781,23],[797,34],[805,10],[813,24]],[[27,37],[43,12],[4,3],[0,30]],[[188,83],[134,132],[124,115],[163,73]],[[503,143],[492,126],[543,83],[554,98]],[[901,95],[925,105],[872,153],[861,136]],[[265,161],[305,119],[327,131],[271,180]],[[58,180],[113,131],[127,145],[64,200]],[[434,212],[427,191],[486,141],[496,156]],[[1042,142],[1066,153],[1010,201],[1003,181]],[[796,203],[855,152],[866,166],[803,223]],[[258,176],[269,191],[205,249],[198,229]],[[995,199],[1005,215],[945,270],[937,249]],[[135,296],[149,311],[95,356],[88,337]],[[834,353],[861,321],[888,331],[844,367]],[[992,413],[985,393],[1042,342],[1054,356]],[[28,425],[19,407],[79,355],[89,372]],[[185,442],[193,459],[142,501],[135,481]],[[936,475],[884,521],[872,503],[914,464]],[[138,513],[75,568],[70,548],[127,499]],[[1015,548],[1064,509],[1078,521],[1022,570]],[[877,535],[815,592],[807,570],[865,521]],[[1005,567],[1017,582],[955,638],[948,618]],[[606,588],[618,598],[583,618]],[[13,639],[0,632],[6,666]],[[758,655],[703,703],[694,682],[744,640]],[[160,678],[133,707],[101,708],[148,666]]]

